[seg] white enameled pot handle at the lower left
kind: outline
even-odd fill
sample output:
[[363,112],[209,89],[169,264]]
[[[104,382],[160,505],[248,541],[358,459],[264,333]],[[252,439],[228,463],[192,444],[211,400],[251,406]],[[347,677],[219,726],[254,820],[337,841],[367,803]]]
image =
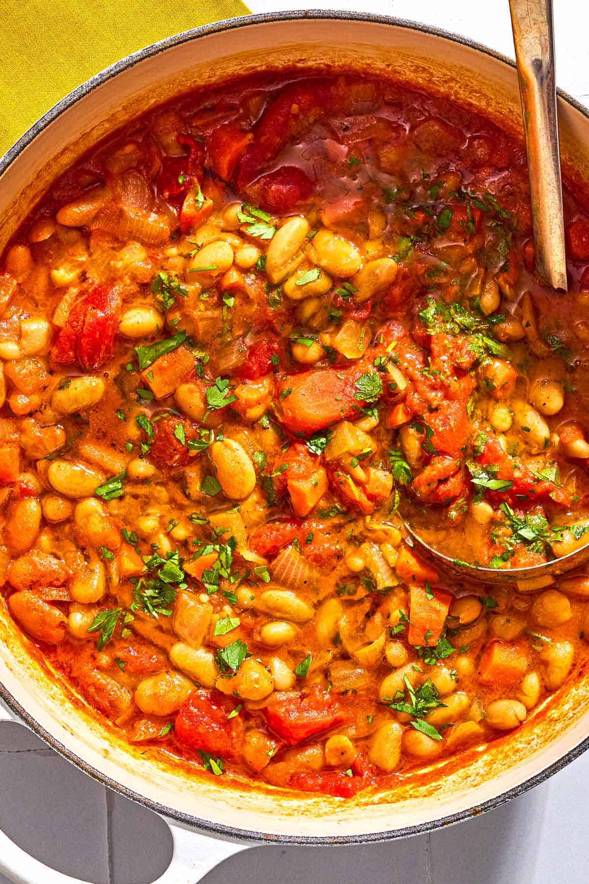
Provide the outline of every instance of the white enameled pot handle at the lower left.
[[[22,724],[0,701],[0,721],[16,721]],[[161,814],[160,814],[161,816]],[[225,841],[210,835],[194,832],[179,823],[162,816],[170,827],[174,840],[174,853],[170,865],[154,884],[198,884],[215,865],[228,859],[239,850],[253,844]],[[49,868],[40,860],[30,857],[0,830],[0,872],[14,884],[90,884]]]

